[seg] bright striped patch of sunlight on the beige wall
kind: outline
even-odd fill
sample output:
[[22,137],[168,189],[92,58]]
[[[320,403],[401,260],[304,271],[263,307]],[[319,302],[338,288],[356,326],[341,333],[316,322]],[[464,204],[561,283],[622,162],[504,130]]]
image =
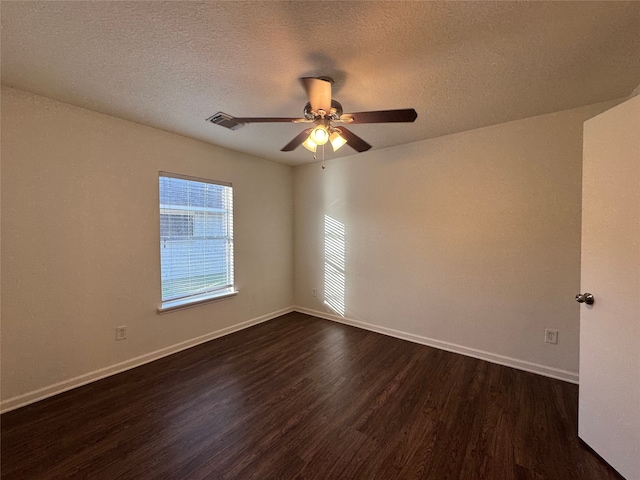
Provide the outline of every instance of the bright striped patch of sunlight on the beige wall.
[[345,228],[328,215],[324,216],[324,303],[344,317]]

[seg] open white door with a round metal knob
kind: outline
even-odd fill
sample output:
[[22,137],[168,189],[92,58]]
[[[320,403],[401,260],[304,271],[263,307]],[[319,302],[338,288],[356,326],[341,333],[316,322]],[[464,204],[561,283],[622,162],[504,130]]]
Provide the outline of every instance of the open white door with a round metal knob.
[[585,122],[583,156],[578,435],[640,480],[640,96]]

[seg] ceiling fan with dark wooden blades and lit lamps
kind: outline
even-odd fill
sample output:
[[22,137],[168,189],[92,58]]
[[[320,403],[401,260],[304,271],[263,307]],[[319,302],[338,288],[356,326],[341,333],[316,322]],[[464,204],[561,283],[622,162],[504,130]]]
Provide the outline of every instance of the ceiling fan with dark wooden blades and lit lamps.
[[309,102],[304,107],[303,118],[233,117],[229,114],[218,112],[207,118],[207,121],[231,130],[237,130],[247,123],[313,123],[314,127],[303,130],[282,147],[281,151],[290,152],[302,145],[307,150],[315,153],[319,145],[324,145],[327,142],[331,143],[333,151],[338,150],[345,144],[358,152],[364,152],[371,148],[371,145],[351,130],[342,125],[336,127],[333,125],[334,123],[413,122],[418,118],[418,114],[413,108],[343,113],[342,105],[331,98],[331,86],[333,85],[331,78],[303,77],[300,82],[309,97]]

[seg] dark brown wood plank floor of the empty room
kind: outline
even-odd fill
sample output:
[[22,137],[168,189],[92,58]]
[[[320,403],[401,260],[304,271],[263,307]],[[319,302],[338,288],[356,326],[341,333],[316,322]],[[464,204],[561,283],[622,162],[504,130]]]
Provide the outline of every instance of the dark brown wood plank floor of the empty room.
[[618,480],[577,395],[292,313],[2,415],[2,478]]

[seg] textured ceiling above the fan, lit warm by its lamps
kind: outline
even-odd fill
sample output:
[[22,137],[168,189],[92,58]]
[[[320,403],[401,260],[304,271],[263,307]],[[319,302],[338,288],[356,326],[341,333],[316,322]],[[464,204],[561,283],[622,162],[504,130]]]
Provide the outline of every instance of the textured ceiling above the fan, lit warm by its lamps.
[[[301,116],[298,78],[330,76],[353,125],[388,147],[628,95],[640,2],[2,2],[2,83],[290,165],[303,128],[205,122]],[[355,155],[349,147],[327,158]]]

